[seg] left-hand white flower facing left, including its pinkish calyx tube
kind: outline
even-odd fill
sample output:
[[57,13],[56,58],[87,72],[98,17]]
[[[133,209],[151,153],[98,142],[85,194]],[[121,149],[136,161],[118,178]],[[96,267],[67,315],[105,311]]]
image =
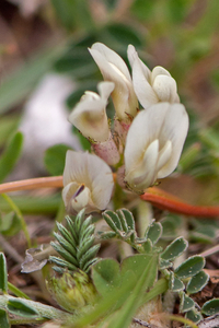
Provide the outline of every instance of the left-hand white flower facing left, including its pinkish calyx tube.
[[108,165],[120,160],[113,140],[106,116],[107,99],[114,90],[113,82],[101,82],[97,85],[100,95],[87,91],[69,116],[69,121],[92,143],[94,152]]

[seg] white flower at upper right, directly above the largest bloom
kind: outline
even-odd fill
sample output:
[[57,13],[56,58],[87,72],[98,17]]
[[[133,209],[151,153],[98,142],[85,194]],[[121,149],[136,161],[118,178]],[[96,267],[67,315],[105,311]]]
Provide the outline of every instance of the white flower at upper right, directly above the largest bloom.
[[128,59],[132,68],[132,84],[143,108],[159,103],[180,103],[175,80],[169,71],[157,66],[152,72],[139,59],[134,46],[128,46]]

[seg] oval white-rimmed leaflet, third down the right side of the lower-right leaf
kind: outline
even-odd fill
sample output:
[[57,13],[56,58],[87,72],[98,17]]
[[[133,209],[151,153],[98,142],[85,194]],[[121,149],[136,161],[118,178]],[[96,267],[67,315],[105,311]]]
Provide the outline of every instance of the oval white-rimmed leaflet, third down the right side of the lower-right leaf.
[[180,279],[185,279],[197,274],[205,267],[205,259],[195,255],[185,260],[175,269],[175,274]]

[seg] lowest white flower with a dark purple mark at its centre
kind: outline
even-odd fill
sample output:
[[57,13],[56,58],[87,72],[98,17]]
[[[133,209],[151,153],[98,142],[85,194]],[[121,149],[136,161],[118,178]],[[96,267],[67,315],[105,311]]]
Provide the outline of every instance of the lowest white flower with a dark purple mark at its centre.
[[88,152],[67,152],[62,198],[68,212],[74,214],[83,208],[85,213],[104,210],[113,186],[112,171],[103,160]]

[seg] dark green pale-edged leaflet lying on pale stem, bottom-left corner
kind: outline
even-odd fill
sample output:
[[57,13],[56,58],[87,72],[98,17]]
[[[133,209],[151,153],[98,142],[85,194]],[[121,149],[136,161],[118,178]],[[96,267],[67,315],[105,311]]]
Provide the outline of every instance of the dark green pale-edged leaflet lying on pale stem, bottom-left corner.
[[33,317],[33,316],[38,315],[38,312],[36,311],[36,308],[28,305],[23,300],[9,298],[7,307],[10,313],[18,315],[18,316]]

